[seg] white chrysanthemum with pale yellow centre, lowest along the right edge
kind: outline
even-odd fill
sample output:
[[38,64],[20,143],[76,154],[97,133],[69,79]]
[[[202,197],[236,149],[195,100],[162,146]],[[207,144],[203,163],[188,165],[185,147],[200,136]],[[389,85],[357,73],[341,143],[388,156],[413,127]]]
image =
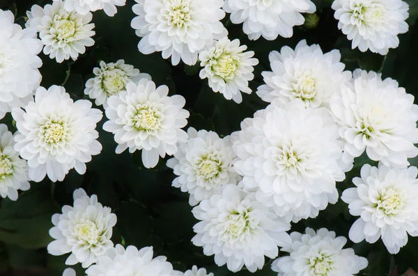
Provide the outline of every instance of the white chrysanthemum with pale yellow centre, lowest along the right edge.
[[418,236],[417,168],[379,168],[363,165],[361,178],[355,177],[356,188],[343,191],[350,214],[360,216],[350,229],[350,240],[366,239],[375,243],[382,236],[391,254],[408,242],[408,234]]

